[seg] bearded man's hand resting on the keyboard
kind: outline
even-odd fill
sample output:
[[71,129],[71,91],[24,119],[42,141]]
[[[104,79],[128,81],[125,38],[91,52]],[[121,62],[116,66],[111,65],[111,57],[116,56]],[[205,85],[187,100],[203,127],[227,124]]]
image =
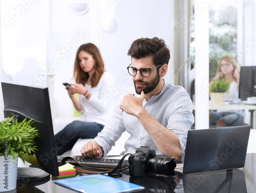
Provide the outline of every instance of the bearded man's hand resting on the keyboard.
[[83,157],[100,158],[103,154],[102,152],[103,150],[101,146],[99,146],[96,141],[88,141],[88,143],[84,144],[81,148],[81,154]]

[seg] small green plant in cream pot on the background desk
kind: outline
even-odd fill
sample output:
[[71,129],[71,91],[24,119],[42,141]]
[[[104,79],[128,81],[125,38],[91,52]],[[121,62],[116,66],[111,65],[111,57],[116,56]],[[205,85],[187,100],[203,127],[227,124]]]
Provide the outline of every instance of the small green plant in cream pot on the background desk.
[[223,104],[224,92],[228,91],[229,85],[230,83],[226,82],[224,78],[212,80],[209,86],[210,99],[212,105],[220,106]]

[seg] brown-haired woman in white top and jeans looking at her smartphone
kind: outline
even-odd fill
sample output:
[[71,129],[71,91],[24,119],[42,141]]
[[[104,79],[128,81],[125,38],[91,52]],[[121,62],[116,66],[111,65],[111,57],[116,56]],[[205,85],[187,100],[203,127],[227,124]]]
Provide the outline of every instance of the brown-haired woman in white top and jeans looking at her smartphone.
[[[71,101],[81,114],[78,120],[55,135],[57,155],[71,150],[78,138],[94,138],[113,110],[113,76],[104,71],[101,54],[93,43],[82,44],[76,53],[74,76],[76,84],[66,86]],[[74,94],[78,93],[78,101]],[[59,142],[61,141],[61,142]]]

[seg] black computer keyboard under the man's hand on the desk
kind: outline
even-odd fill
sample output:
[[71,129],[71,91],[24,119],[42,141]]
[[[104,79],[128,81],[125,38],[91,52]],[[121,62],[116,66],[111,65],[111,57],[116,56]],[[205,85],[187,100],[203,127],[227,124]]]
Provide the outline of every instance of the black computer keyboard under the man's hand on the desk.
[[[57,156],[58,165],[61,165],[61,160],[67,156]],[[105,167],[105,168],[115,168],[119,163],[120,159],[106,159],[106,158],[85,158],[85,157],[72,157],[78,163],[84,166],[90,167]],[[69,159],[66,163],[70,163],[75,166],[79,166],[74,160]],[[128,160],[123,160],[121,168],[124,168],[129,165]]]

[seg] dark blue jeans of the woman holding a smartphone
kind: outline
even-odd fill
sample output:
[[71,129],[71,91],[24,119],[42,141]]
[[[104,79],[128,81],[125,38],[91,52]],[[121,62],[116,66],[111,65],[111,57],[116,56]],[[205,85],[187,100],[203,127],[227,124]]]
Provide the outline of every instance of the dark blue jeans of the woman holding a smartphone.
[[57,155],[62,155],[66,151],[71,150],[78,138],[88,139],[96,137],[103,127],[103,125],[97,123],[74,120],[74,122],[67,125],[54,136]]

